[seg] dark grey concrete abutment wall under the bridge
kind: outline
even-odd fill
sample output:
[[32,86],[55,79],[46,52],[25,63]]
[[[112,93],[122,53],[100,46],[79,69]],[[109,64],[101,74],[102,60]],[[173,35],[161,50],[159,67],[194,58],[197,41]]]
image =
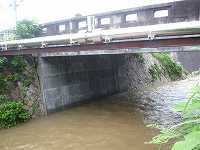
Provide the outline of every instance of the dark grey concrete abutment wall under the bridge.
[[125,62],[124,55],[40,58],[46,111],[127,90]]

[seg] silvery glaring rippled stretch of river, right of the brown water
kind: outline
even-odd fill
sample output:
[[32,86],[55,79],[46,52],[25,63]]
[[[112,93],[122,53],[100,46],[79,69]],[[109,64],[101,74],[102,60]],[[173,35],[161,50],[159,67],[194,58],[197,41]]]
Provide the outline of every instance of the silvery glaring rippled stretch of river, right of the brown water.
[[189,76],[185,80],[149,87],[133,101],[137,110],[144,114],[146,123],[171,126],[180,121],[180,114],[174,113],[173,107],[186,101],[197,84],[200,84],[200,75]]

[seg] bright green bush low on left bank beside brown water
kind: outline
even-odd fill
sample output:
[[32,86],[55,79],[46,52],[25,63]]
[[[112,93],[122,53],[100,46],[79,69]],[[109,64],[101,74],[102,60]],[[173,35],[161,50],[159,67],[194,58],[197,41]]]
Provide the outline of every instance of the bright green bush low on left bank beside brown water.
[[6,102],[0,105],[0,128],[10,128],[30,118],[21,102]]

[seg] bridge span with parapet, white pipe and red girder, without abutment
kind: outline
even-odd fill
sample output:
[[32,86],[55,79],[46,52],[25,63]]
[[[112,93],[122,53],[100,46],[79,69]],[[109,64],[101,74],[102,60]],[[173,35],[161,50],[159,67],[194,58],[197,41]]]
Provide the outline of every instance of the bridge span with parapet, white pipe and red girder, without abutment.
[[42,37],[0,42],[0,56],[199,51],[199,8],[185,0],[47,23]]

